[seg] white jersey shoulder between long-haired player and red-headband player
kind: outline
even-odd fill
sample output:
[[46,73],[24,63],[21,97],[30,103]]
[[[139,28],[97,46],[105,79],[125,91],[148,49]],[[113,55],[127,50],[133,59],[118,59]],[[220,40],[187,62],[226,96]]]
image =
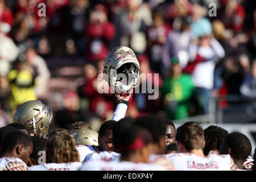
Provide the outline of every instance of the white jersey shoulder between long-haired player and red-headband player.
[[119,161],[121,157],[121,154],[113,151],[101,151],[101,152],[94,152],[92,154],[88,154],[85,158],[85,162],[88,161],[98,161],[98,160],[104,160],[106,162],[109,161]]

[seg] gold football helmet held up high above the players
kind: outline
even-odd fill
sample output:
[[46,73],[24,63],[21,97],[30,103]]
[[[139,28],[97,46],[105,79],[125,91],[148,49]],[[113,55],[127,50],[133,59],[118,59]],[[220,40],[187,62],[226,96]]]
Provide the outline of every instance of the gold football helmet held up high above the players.
[[104,61],[104,78],[117,92],[127,92],[139,86],[139,62],[129,47],[113,48]]

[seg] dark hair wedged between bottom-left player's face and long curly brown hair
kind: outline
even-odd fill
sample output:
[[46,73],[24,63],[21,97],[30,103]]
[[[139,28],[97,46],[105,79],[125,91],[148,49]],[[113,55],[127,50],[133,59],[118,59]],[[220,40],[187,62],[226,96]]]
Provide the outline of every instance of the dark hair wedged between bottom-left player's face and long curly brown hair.
[[39,158],[38,152],[46,150],[47,139],[43,138],[43,137],[33,137],[31,140],[32,140],[32,143],[33,143],[33,152],[30,155],[30,158],[35,159],[36,162],[37,162],[37,160]]

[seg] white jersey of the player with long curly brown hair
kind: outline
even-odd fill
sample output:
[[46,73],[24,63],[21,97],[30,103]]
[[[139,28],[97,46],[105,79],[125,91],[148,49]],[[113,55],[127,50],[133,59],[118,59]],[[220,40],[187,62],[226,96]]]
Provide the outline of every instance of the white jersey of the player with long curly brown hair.
[[82,166],[81,162],[73,163],[44,163],[28,167],[29,171],[77,171]]

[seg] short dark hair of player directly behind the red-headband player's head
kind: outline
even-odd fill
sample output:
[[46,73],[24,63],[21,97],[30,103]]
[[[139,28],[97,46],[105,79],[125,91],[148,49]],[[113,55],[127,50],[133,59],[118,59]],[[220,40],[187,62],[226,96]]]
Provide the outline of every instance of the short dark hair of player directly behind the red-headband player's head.
[[135,125],[146,128],[151,133],[154,143],[158,143],[160,137],[166,135],[164,119],[155,115],[139,117],[135,120]]

